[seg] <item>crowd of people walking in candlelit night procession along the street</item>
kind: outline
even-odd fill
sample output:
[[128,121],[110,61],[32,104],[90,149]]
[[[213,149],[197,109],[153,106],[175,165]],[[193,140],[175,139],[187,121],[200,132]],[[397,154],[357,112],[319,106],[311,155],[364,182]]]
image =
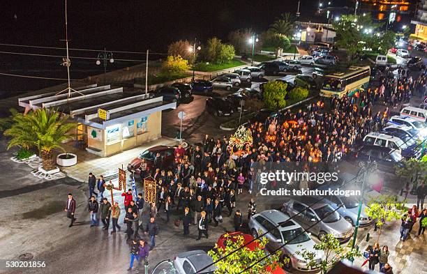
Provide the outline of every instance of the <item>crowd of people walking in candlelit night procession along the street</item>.
[[[409,101],[415,92],[424,95],[425,89],[425,70],[421,71],[417,79],[399,70],[398,77],[393,77],[392,73],[381,76],[377,89],[368,89],[358,96],[332,98],[330,112],[325,112],[324,102],[319,101],[304,111],[299,109],[292,113],[288,109],[285,113],[269,117],[265,122],[249,123],[247,128],[253,142],[247,146],[234,146],[225,136],[214,139],[206,135],[198,146],[184,149],[179,145],[174,150],[172,165],[166,165],[160,153],[154,158],[152,168],[149,162],[142,160],[139,170],[141,177],[152,176],[158,191],[156,203],[149,204],[149,222],[145,226],[142,222],[142,193],[133,197],[129,189],[122,194],[126,234],[128,240],[133,241],[130,269],[134,259],[147,261],[149,250],[155,247],[155,237],[159,233],[156,218],[159,216],[164,216],[165,222],[170,222],[171,213],[178,215],[174,224],[182,222],[184,236],[190,234],[190,225],[195,225],[197,240],[202,236],[209,237],[209,225],[217,226],[223,222],[223,218],[232,215],[234,230],[239,231],[244,220],[242,211],[236,208],[236,202],[246,191],[245,188],[250,194],[255,191],[255,163],[336,162],[356,149],[368,132],[381,130],[387,123],[389,109],[396,108],[400,102]],[[387,108],[384,112],[373,113],[373,105],[381,100]],[[89,174],[88,209],[91,227],[98,225],[99,214],[105,230],[110,228],[112,219],[111,233],[114,234],[121,230],[121,209],[117,201],[110,204],[107,197],[103,196],[106,185],[103,176],[99,176],[97,181],[93,174]],[[256,213],[256,208],[255,200],[250,199],[247,218]],[[72,226],[75,221],[75,201],[72,197],[68,199],[66,211]],[[139,231],[149,234],[149,248]],[[378,246],[374,246],[370,254],[374,257],[382,254],[379,251],[375,254],[378,249]],[[387,261],[381,263],[384,256],[383,253],[378,259],[382,264],[380,270],[390,267]]]

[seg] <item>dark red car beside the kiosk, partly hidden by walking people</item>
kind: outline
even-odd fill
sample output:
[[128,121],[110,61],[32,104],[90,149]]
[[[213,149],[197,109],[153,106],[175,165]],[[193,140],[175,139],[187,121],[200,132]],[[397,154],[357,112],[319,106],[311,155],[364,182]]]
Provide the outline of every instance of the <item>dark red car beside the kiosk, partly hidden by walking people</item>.
[[128,163],[128,171],[135,172],[135,174],[140,175],[142,159],[147,163],[147,171],[153,169],[157,153],[160,153],[160,159],[161,162],[163,162],[163,167],[172,167],[172,164],[174,163],[174,150],[175,148],[173,146],[153,146],[152,148],[142,152],[137,158],[131,160],[130,163]]

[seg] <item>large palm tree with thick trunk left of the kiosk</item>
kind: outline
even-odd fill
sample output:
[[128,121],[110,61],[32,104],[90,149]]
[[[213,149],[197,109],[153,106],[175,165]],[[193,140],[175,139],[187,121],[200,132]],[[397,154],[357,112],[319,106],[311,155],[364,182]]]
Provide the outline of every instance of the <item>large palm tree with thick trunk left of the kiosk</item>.
[[12,127],[4,132],[4,135],[12,137],[7,149],[13,146],[36,147],[43,169],[49,171],[55,169],[52,151],[65,151],[61,142],[73,136],[68,131],[75,127],[76,123],[69,122],[66,116],[52,109],[37,109],[27,115],[15,114]]

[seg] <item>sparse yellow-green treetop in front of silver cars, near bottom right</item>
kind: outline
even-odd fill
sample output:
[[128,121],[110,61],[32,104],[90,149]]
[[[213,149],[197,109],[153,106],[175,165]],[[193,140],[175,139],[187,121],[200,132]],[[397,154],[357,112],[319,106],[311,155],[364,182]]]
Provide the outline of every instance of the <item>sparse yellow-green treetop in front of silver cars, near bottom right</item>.
[[332,234],[325,235],[320,240],[320,243],[316,243],[313,248],[324,252],[324,257],[322,257],[320,261],[317,260],[317,252],[309,251],[304,248],[296,253],[307,261],[307,266],[320,268],[322,274],[327,273],[329,268],[332,268],[338,261],[344,259],[352,260],[355,257],[361,257],[361,252],[356,249],[341,246],[340,241]]

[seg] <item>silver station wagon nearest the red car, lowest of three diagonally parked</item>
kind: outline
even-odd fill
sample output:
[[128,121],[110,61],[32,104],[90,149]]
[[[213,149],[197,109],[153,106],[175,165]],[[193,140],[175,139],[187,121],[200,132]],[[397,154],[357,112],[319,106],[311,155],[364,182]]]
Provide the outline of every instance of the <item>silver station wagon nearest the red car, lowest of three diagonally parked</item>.
[[297,250],[306,249],[310,252],[315,252],[315,259],[319,261],[323,257],[323,251],[314,249],[315,242],[310,238],[310,235],[297,222],[290,220],[288,215],[280,211],[262,211],[255,214],[250,218],[248,227],[254,238],[257,238],[259,233],[264,234],[269,231],[266,234],[269,239],[267,249],[277,250],[281,247],[282,258],[287,257],[290,259],[290,262],[284,266],[287,269],[313,270],[307,266],[301,255],[296,254]]

